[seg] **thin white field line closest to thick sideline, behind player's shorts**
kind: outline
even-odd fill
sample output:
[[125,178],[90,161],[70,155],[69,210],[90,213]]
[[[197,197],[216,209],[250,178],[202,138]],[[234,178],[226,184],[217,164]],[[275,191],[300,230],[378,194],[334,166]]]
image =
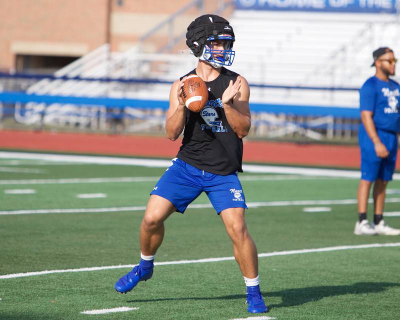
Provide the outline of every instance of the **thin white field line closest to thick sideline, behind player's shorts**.
[[[121,176],[98,178],[59,178],[59,179],[14,179],[0,180],[0,185],[6,184],[68,184],[68,183],[112,183],[112,182],[155,182],[160,176]],[[275,180],[308,180],[333,179],[334,177],[318,177],[296,174],[269,174],[269,175],[239,175],[240,181],[275,181]]]

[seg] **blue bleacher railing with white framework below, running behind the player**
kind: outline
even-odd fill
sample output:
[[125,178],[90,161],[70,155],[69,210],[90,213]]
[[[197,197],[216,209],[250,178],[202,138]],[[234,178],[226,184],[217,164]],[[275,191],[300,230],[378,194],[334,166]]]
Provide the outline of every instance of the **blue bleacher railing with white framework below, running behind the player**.
[[[9,81],[42,81],[53,79],[52,75],[5,74],[0,73],[0,83],[7,88]],[[120,83],[129,85],[163,84],[171,81],[138,78],[83,78],[56,77],[58,81],[84,81]],[[283,88],[293,90],[344,90],[356,88],[301,87],[251,84],[257,88]],[[76,96],[63,94],[37,94],[25,91],[0,92],[0,114],[28,125],[43,127],[73,126],[89,130],[120,130],[125,132],[161,132],[164,130],[165,112],[169,102],[165,99]],[[252,129],[250,135],[280,137],[303,136],[310,139],[350,138],[355,136],[359,125],[359,111],[354,107],[294,105],[278,103],[258,103],[250,101]],[[1,120],[1,117],[0,117]]]

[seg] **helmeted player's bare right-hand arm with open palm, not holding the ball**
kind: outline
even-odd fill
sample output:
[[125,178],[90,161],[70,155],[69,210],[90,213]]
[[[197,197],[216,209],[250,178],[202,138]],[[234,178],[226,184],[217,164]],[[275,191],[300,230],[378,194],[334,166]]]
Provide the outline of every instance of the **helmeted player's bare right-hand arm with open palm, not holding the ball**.
[[229,82],[229,86],[222,94],[226,119],[239,138],[243,138],[248,134],[251,125],[250,108],[248,106],[249,97],[250,89],[247,80],[240,75],[234,83],[233,81]]

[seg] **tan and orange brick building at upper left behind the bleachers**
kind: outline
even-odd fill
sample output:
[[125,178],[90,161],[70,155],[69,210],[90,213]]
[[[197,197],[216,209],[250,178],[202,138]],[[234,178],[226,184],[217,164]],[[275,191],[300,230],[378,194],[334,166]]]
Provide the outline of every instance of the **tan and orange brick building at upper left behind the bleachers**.
[[[109,43],[123,51],[184,6],[140,46],[156,51],[171,34],[181,33],[204,12],[224,1],[213,0],[0,0],[0,70],[52,72],[96,47]],[[181,44],[180,46],[184,45]]]

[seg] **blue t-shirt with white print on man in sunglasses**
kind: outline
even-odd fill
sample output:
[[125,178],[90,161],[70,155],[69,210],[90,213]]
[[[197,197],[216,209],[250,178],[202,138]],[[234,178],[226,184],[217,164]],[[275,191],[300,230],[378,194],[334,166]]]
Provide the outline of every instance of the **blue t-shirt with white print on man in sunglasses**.
[[377,129],[400,132],[400,85],[391,79],[370,77],[359,89],[359,109],[372,112]]

